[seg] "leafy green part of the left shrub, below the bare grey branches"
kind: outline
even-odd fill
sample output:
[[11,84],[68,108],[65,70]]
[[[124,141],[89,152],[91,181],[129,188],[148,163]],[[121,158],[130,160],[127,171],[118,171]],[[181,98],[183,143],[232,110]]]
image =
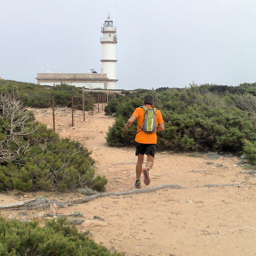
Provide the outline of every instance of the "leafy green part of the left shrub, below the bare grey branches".
[[77,141],[60,139],[43,125],[24,140],[30,144],[26,152],[12,163],[0,165],[0,190],[65,191],[86,186],[104,191],[107,179],[94,177],[94,160]]

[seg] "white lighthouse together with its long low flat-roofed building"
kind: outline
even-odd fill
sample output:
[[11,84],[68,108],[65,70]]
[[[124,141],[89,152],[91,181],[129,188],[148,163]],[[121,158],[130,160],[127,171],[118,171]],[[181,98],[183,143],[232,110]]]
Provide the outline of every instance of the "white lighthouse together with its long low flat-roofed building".
[[60,85],[68,84],[76,87],[85,87],[88,89],[116,89],[116,27],[110,16],[104,21],[101,27],[103,37],[101,37],[101,66],[102,73],[96,73],[94,69],[90,69],[88,73],[71,74],[71,73],[37,73],[37,84],[40,85]]

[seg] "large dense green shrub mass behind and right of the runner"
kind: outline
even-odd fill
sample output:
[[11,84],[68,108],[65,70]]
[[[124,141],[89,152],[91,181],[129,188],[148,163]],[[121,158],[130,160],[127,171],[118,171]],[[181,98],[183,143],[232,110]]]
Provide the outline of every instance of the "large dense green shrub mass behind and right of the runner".
[[[253,85],[227,87],[191,85],[182,90],[132,93],[115,103],[115,123],[108,129],[109,146],[133,145],[136,121],[128,132],[124,129],[133,110],[142,104],[144,94],[152,94],[154,106],[161,110],[166,129],[158,132],[158,148],[241,152],[243,140],[256,139],[256,102]],[[237,93],[244,93],[238,95]],[[243,102],[244,108],[237,102]],[[112,109],[111,107],[109,108]]]

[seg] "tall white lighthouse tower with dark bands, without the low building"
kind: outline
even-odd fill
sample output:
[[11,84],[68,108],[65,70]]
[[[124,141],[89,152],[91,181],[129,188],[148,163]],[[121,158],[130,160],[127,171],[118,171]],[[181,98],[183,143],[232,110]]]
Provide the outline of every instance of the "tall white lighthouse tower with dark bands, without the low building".
[[113,27],[113,21],[110,19],[109,13],[107,20],[101,27],[103,37],[101,37],[101,67],[102,74],[107,74],[107,89],[116,89],[116,43],[117,37],[116,27]]

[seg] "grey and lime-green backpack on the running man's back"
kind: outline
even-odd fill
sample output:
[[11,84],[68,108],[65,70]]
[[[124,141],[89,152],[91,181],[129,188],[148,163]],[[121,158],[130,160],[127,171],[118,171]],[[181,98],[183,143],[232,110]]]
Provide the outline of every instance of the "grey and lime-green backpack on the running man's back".
[[145,132],[145,133],[153,133],[155,130],[157,130],[157,127],[155,126],[155,118],[157,117],[157,114],[155,113],[156,108],[147,108],[144,106],[141,106],[141,108],[144,109],[144,120],[142,127],[140,127],[141,130],[138,132]]

